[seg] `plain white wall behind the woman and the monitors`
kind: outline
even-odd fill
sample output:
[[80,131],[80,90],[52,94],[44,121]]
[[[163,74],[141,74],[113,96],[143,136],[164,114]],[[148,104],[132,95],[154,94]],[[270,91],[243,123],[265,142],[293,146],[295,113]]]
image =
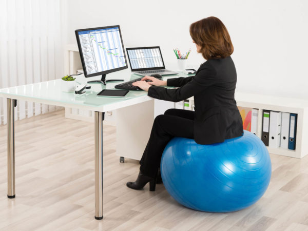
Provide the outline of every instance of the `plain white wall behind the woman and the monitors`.
[[188,68],[204,62],[196,53],[189,25],[217,16],[235,51],[237,90],[308,98],[308,1],[67,0],[67,42],[74,30],[120,25],[125,47],[161,46],[167,68],[176,69],[172,48],[192,48]]

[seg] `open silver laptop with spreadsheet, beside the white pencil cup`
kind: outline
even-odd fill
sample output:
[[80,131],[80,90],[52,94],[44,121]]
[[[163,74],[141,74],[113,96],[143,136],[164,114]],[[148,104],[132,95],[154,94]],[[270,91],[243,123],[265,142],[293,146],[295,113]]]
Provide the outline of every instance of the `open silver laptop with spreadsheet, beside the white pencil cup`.
[[131,71],[140,75],[178,74],[165,68],[160,47],[126,48]]

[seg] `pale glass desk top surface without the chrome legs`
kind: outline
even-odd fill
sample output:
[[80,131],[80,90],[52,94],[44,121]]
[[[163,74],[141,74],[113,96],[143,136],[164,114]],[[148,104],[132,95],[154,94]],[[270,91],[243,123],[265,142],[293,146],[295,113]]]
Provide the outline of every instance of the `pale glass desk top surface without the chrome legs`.
[[[179,76],[188,76],[185,74],[167,75],[168,78],[176,78]],[[131,74],[129,69],[107,74],[109,79],[124,79],[125,82],[140,78],[141,75]],[[100,80],[101,76],[93,78],[84,78],[84,75],[76,76],[76,81],[86,83],[91,80]],[[34,83],[16,87],[0,89],[0,97],[32,101],[63,107],[73,107],[78,109],[87,109],[93,111],[108,111],[137,103],[151,100],[147,96],[146,91],[129,91],[124,98],[99,97],[97,94],[103,89],[114,89],[114,86],[123,82],[109,82],[107,86],[99,83],[90,84],[91,89],[87,89],[85,94],[75,94],[74,92],[63,92],[61,90],[61,82],[63,80],[51,80],[47,82]]]

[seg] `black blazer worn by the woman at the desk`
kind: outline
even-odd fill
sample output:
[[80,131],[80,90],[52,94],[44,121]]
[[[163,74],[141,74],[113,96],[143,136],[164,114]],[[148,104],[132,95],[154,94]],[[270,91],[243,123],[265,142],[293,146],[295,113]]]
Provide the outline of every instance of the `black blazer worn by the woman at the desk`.
[[243,135],[243,122],[234,99],[236,69],[230,56],[203,63],[195,76],[167,80],[167,89],[151,86],[148,95],[179,102],[194,96],[194,140],[198,144],[223,142]]

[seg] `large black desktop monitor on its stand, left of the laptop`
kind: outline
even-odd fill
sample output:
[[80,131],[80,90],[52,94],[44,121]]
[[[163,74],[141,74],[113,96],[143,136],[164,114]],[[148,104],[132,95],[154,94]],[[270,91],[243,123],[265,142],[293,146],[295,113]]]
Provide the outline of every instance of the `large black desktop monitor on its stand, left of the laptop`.
[[75,30],[85,77],[102,75],[102,83],[123,80],[106,80],[106,74],[128,68],[120,26]]

